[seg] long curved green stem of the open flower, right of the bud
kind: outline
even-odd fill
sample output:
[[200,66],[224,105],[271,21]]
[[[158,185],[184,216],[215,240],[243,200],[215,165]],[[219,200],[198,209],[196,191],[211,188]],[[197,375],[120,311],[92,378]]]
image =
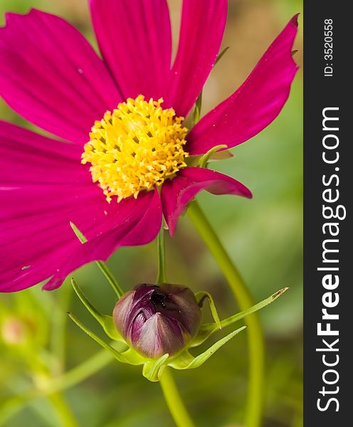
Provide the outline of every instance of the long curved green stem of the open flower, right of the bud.
[[[221,241],[214,232],[199,204],[192,201],[188,209],[189,218],[194,223],[196,230],[208,246],[214,259],[221,268],[228,281],[241,311],[253,305],[253,298],[240,273],[223,248]],[[257,314],[247,317],[248,324],[248,349],[249,349],[249,386],[248,405],[246,411],[246,427],[258,427],[261,424],[263,411],[263,371],[265,347],[263,332]]]

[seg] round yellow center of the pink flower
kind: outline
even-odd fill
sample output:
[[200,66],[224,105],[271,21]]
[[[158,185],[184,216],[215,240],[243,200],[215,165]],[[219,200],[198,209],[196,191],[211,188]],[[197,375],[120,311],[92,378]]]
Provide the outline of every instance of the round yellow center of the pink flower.
[[90,132],[82,163],[90,163],[93,182],[98,182],[107,201],[134,196],[172,178],[186,167],[184,117],[173,108],[163,109],[162,98],[149,102],[139,95],[128,98],[113,112],[105,112]]

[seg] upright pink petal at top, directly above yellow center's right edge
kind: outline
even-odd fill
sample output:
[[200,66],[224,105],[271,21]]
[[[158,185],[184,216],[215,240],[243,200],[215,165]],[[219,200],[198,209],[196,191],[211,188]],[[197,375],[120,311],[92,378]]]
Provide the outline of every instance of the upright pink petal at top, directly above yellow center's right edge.
[[167,102],[177,115],[189,113],[209,77],[221,47],[227,0],[184,0],[179,48]]

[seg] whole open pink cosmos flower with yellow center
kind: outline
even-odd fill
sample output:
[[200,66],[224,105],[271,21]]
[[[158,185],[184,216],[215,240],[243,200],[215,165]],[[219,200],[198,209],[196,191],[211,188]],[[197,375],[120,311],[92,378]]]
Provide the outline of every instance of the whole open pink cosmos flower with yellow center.
[[0,122],[3,292],[47,279],[45,289],[57,288],[80,265],[152,241],[162,214],[173,235],[201,189],[251,197],[229,176],[188,167],[187,157],[258,134],[297,70],[295,16],[243,85],[186,133],[182,117],[217,58],[227,1],[183,1],[172,66],[167,0],[90,0],[90,10],[102,59],[58,16],[6,14],[0,28],[1,96],[56,136]]

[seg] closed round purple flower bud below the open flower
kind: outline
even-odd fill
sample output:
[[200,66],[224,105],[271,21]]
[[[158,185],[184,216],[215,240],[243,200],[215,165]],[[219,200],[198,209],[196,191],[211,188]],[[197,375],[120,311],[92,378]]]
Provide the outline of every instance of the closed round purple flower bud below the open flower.
[[113,311],[117,330],[137,352],[157,359],[180,352],[195,337],[201,310],[194,293],[181,285],[138,285]]

